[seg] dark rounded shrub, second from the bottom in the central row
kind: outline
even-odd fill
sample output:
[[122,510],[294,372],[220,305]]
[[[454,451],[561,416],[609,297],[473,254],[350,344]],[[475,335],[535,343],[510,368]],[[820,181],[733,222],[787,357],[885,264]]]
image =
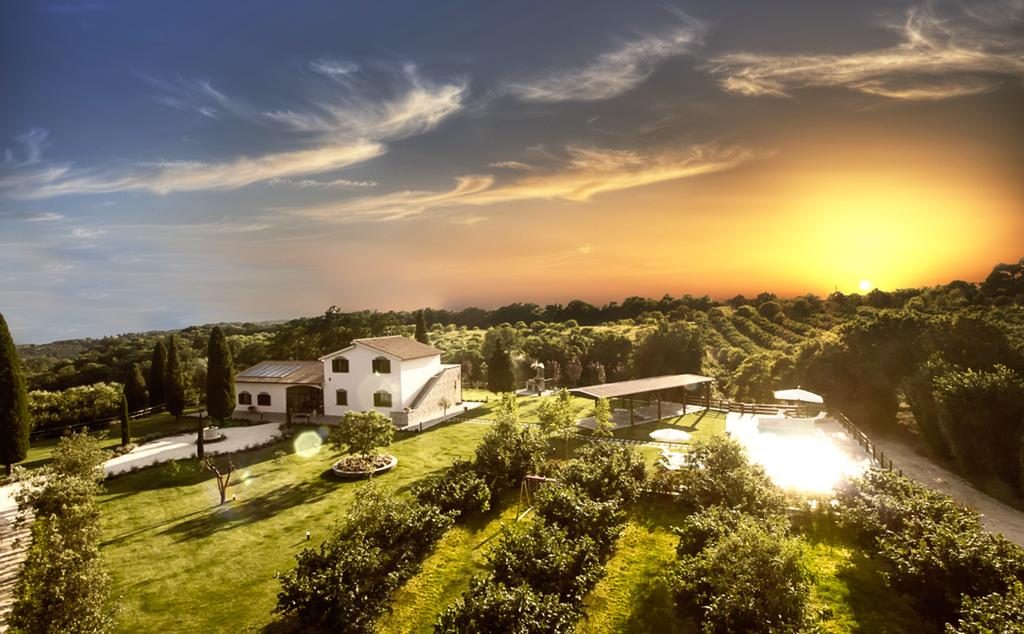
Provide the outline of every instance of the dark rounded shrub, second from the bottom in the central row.
[[496,581],[509,587],[526,584],[573,604],[580,603],[601,577],[594,540],[571,539],[561,527],[544,521],[526,529],[507,529],[487,561]]

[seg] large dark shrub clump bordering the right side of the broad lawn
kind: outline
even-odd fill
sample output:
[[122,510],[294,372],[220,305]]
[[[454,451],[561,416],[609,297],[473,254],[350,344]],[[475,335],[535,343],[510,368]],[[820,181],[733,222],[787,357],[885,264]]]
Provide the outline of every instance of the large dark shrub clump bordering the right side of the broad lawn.
[[306,548],[282,576],[275,611],[305,628],[372,632],[391,593],[452,525],[434,506],[359,491],[345,521],[317,549]]

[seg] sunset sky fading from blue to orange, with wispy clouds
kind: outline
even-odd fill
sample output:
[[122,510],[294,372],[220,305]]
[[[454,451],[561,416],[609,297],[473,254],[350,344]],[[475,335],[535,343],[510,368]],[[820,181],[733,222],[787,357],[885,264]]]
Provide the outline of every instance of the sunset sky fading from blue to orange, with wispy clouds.
[[18,342],[980,280],[1024,0],[4,2]]

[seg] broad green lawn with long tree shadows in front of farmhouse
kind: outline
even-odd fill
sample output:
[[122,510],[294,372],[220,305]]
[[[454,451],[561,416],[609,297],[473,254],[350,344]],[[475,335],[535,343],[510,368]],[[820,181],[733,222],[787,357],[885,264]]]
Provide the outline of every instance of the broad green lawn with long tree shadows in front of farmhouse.
[[[400,434],[389,452],[394,471],[377,480],[398,494],[457,456],[468,457],[487,430],[471,423]],[[288,456],[275,464],[274,453]],[[217,506],[212,475],[182,462],[110,480],[101,497],[103,558],[120,596],[122,632],[259,631],[271,618],[279,583],[307,543],[325,538],[359,482],[325,475],[325,450],[303,459],[291,443],[236,456],[237,497]]]

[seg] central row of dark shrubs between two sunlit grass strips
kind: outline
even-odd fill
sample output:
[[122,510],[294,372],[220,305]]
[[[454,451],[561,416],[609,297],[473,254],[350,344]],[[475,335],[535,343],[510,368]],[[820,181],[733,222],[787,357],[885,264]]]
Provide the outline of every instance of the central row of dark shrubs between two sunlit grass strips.
[[622,506],[636,499],[645,477],[628,447],[595,443],[578,456],[559,483],[536,495],[537,518],[505,530],[487,556],[490,573],[473,580],[435,632],[572,630],[625,525]]

